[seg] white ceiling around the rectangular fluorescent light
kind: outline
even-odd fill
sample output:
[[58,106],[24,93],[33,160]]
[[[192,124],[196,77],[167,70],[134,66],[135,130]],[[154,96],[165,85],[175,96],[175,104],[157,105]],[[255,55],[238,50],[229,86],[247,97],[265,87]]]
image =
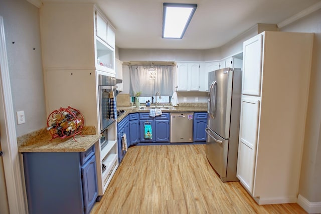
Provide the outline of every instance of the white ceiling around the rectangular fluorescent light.
[[[320,0],[42,0],[96,3],[116,29],[116,46],[138,49],[220,47],[257,23],[278,24]],[[163,3],[197,4],[180,39],[162,39]]]

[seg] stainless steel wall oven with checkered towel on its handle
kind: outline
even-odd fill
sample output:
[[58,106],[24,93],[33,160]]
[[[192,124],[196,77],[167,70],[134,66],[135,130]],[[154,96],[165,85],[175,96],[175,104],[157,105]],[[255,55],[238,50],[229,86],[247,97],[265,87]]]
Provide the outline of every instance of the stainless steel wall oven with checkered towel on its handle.
[[[116,100],[116,78],[112,76],[98,75],[98,90],[99,90],[99,120],[100,132],[103,132],[115,120],[112,113],[112,103],[110,102],[110,95],[113,93]],[[116,102],[115,102],[116,103]]]

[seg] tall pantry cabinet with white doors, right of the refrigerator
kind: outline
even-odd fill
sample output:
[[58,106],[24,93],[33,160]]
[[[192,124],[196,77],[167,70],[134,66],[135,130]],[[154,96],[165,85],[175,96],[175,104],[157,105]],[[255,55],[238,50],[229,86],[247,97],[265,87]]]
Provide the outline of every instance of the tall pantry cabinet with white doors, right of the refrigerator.
[[258,204],[297,200],[312,45],[286,32],[243,44],[237,177]]

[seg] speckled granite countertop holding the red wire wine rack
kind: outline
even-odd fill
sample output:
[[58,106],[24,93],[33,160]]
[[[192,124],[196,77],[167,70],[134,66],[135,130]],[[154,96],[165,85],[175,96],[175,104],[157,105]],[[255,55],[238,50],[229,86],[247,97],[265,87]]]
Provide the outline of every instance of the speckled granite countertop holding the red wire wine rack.
[[94,145],[100,134],[86,134],[75,136],[67,139],[55,138],[51,140],[51,135],[44,129],[32,136],[26,136],[25,139],[18,139],[18,152],[84,152]]

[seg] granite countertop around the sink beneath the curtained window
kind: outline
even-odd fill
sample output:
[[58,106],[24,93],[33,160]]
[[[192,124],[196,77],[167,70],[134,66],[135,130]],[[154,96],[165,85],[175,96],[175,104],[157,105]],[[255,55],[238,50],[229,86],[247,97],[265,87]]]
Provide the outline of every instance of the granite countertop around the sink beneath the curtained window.
[[[162,107],[163,105],[158,105],[159,107]],[[168,106],[169,109],[162,109],[162,112],[207,112],[207,103],[202,103],[200,105],[186,105],[186,106],[179,106],[179,107],[174,107],[174,106]],[[144,105],[141,105],[140,107],[144,107]],[[123,109],[126,112],[117,117],[117,122],[120,122],[122,119],[124,119],[128,114],[130,113],[139,113],[139,112],[149,112],[149,110],[141,110],[135,106],[132,107],[119,107],[119,109]],[[151,107],[154,107],[152,105]]]

